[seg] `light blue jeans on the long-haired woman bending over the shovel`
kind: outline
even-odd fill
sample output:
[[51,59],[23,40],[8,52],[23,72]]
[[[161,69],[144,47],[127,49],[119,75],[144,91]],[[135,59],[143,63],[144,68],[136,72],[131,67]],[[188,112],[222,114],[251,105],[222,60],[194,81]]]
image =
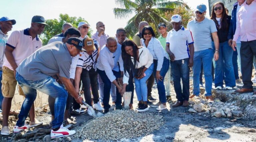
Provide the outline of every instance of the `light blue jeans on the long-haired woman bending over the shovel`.
[[145,74],[146,74],[145,77],[141,79],[134,78],[135,91],[136,91],[138,101],[147,102],[148,89],[147,89],[146,81],[151,76],[153,69],[154,69],[154,63],[152,63],[150,67],[145,71]]

